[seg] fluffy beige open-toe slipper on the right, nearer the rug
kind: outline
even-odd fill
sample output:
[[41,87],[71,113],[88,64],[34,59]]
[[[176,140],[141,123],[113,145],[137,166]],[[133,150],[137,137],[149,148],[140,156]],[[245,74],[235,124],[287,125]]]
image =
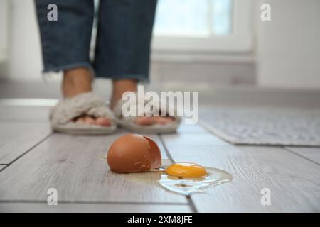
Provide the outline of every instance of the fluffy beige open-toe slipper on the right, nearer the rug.
[[[136,94],[136,97],[138,97],[138,95]],[[129,101],[130,102],[130,101]],[[117,123],[122,126],[123,128],[127,128],[130,131],[134,131],[134,132],[138,132],[138,133],[175,133],[178,126],[180,126],[181,123],[181,117],[177,116],[176,114],[176,109],[174,109],[173,106],[169,106],[168,110],[170,109],[171,111],[174,111],[174,121],[171,121],[170,123],[166,123],[166,124],[159,124],[159,123],[154,123],[152,125],[149,126],[145,126],[145,125],[140,125],[138,123],[136,123],[136,116],[123,116],[122,115],[122,106],[124,104],[129,104],[129,105],[135,105],[136,109],[138,109],[138,105],[139,103],[144,104],[144,106],[148,103],[148,100],[144,100],[144,101],[136,101],[128,103],[128,101],[124,101],[124,100],[119,100],[117,102],[117,104],[114,106],[114,115],[116,117],[116,121]],[[161,102],[162,103],[162,102]],[[143,106],[143,108],[144,108]],[[159,109],[154,109],[155,111],[165,111],[165,109],[161,108],[161,106],[159,106]],[[166,111],[167,116],[169,111]],[[148,114],[152,114],[151,112],[144,112],[144,114],[148,115]]]

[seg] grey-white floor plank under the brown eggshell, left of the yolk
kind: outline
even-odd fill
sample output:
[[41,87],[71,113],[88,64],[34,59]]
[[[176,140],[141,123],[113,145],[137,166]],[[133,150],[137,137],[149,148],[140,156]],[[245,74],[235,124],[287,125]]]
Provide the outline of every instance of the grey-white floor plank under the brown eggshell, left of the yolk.
[[53,134],[0,173],[0,201],[186,203],[186,197],[159,187],[159,173],[117,174],[107,167],[107,148],[119,135]]

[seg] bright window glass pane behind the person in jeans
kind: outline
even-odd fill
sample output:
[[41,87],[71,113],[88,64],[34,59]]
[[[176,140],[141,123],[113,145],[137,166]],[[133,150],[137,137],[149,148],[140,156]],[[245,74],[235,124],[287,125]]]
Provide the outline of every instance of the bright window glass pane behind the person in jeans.
[[159,0],[155,35],[220,36],[233,33],[233,0]]

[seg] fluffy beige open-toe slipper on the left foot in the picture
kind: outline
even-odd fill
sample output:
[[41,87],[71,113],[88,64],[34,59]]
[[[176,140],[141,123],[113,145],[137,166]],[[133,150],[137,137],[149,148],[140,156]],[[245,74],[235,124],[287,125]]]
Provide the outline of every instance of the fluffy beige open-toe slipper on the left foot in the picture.
[[[97,126],[73,122],[73,119],[79,116],[105,117],[111,121],[111,125]],[[75,135],[105,135],[113,133],[117,128],[109,106],[92,92],[59,101],[50,111],[50,123],[53,131]]]

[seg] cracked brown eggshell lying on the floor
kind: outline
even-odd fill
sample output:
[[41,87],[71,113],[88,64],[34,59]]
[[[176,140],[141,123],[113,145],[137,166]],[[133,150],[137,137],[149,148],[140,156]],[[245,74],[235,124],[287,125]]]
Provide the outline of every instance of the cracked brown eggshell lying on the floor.
[[107,163],[114,172],[144,172],[160,167],[161,153],[150,138],[127,134],[112,143],[107,153]]

